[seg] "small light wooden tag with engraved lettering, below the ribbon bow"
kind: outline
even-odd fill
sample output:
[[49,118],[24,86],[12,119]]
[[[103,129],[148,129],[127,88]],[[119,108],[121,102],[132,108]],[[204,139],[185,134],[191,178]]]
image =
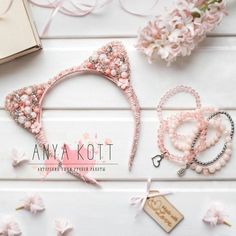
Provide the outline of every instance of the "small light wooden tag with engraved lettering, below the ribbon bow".
[[[150,193],[156,192],[158,191],[150,191]],[[168,233],[184,219],[184,216],[164,196],[148,197],[143,209]]]

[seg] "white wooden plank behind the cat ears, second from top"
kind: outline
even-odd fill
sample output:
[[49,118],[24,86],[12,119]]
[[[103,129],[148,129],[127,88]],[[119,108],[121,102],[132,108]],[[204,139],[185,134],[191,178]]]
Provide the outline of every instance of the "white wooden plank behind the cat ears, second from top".
[[[108,41],[45,40],[41,53],[1,65],[0,107],[3,107],[4,97],[12,90],[48,81],[62,69],[81,63]],[[133,39],[122,41],[130,56],[132,82],[142,108],[155,108],[168,89],[181,84],[196,89],[203,104],[235,108],[236,96],[232,85],[235,83],[236,67],[232,62],[236,56],[236,38],[208,38],[191,57],[171,67],[161,63],[148,64],[134,49]],[[173,99],[172,107],[173,104],[177,107],[193,106],[192,100],[185,96]],[[99,76],[84,75],[75,76],[54,88],[46,97],[44,107],[126,109],[128,104],[111,82]]]

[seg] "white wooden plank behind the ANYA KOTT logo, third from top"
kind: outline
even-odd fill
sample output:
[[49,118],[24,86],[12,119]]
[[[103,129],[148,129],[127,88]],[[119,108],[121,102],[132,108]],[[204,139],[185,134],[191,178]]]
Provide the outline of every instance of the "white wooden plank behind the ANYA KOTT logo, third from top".
[[[236,112],[230,111],[232,117],[235,119]],[[138,152],[134,162],[132,172],[128,172],[127,162],[131,149],[132,135],[133,135],[133,119],[129,111],[45,111],[43,115],[43,124],[48,136],[50,144],[57,145],[57,155],[61,157],[62,150],[60,147],[64,143],[70,146],[70,149],[76,150],[79,140],[84,142],[84,134],[88,134],[94,143],[95,150],[99,150],[96,142],[105,143],[105,140],[111,140],[113,146],[109,149],[108,146],[103,145],[101,148],[102,160],[100,160],[99,151],[95,154],[95,167],[103,167],[101,170],[91,170],[89,175],[100,180],[120,180],[120,179],[146,179],[151,176],[158,180],[235,180],[236,173],[234,166],[236,159],[234,156],[227,163],[226,167],[212,176],[198,175],[191,170],[187,171],[182,178],[177,176],[177,170],[181,166],[173,164],[169,161],[163,161],[161,167],[156,169],[152,165],[151,157],[159,154],[156,144],[158,120],[155,111],[143,111],[142,113],[142,129]],[[33,137],[24,129],[18,127],[13,120],[4,112],[0,112],[0,126],[1,126],[1,165],[0,179],[41,179],[42,173],[38,171],[38,167],[45,167],[43,154],[40,153],[39,160],[33,153],[35,148],[35,141]],[[185,127],[190,129],[190,127]],[[183,130],[184,131],[184,130]],[[97,139],[95,136],[97,135]],[[174,151],[169,141],[166,140],[168,148]],[[236,139],[234,139],[236,145]],[[22,168],[13,169],[11,166],[11,150],[13,147],[22,149],[31,159],[30,165],[25,165]],[[86,143],[85,143],[85,147]],[[222,149],[223,143],[220,142],[216,147],[211,148],[201,155],[201,160],[213,159]],[[91,147],[90,147],[91,148]],[[111,151],[110,151],[111,150]],[[110,155],[111,153],[111,155]],[[173,152],[178,154],[176,151]],[[69,154],[70,155],[70,154]],[[84,155],[84,159],[87,158]],[[111,157],[111,160],[110,160]],[[71,156],[70,156],[71,158]],[[102,165],[105,160],[107,164]],[[89,161],[88,161],[89,162]],[[36,165],[40,163],[40,165]],[[41,165],[41,163],[43,165]],[[76,162],[78,163],[78,162]],[[83,163],[86,163],[84,161]],[[80,167],[84,164],[80,163]],[[91,163],[91,162],[90,162]],[[99,164],[100,163],[100,164]],[[52,172],[46,179],[68,179],[74,180],[73,177],[61,172]]]

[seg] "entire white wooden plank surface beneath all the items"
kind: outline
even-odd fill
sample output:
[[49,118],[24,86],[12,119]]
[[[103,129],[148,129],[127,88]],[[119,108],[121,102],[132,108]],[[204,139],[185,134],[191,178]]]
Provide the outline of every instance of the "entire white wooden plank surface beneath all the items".
[[[160,0],[156,12],[163,12],[164,7],[172,3]],[[155,180],[153,187],[174,192],[168,199],[185,216],[171,235],[234,236],[235,155],[214,176],[203,177],[189,171],[182,179],[176,176],[178,167],[163,161],[161,167],[155,169],[150,157],[158,153],[155,107],[169,88],[180,84],[192,86],[200,93],[205,106],[226,109],[235,120],[235,8],[236,4],[229,1],[230,14],[211,37],[191,57],[171,67],[149,65],[136,52],[134,37],[147,19],[123,12],[117,0],[84,18],[58,14],[43,40],[43,51],[0,66],[0,214],[15,215],[22,225],[23,235],[27,236],[56,235],[53,221],[57,217],[70,219],[76,228],[71,235],[76,236],[165,235],[145,213],[134,220],[135,209],[129,206],[130,197],[144,192],[145,180],[152,177]],[[50,11],[37,7],[32,9],[41,31]],[[12,148],[21,147],[30,156],[34,140],[4,111],[5,95],[23,86],[47,81],[61,69],[79,64],[92,51],[115,37],[119,37],[127,48],[132,83],[142,107],[142,132],[133,171],[127,171],[133,133],[133,118],[128,104],[118,88],[94,75],[76,76],[58,85],[45,99],[43,122],[52,142],[73,144],[84,133],[91,136],[97,134],[101,140],[112,140],[113,157],[118,165],[109,166],[105,173],[90,173],[101,180],[102,188],[86,186],[59,173],[53,173],[42,181],[33,166],[26,165],[14,170],[10,163]],[[193,100],[186,98],[176,97],[174,102],[168,103],[166,112],[192,108]],[[205,158],[215,155],[219,148],[210,150]],[[43,196],[47,210],[39,216],[15,212],[20,199],[31,192],[39,192]],[[201,218],[212,201],[221,201],[226,205],[233,227],[211,229],[202,223]]]

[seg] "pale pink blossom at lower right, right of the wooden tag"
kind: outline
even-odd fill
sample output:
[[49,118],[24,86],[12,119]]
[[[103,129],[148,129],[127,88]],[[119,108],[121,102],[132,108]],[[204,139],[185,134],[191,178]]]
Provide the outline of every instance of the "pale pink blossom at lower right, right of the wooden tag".
[[227,224],[226,213],[224,206],[219,202],[213,202],[210,208],[207,210],[203,221],[211,226],[216,226],[218,224]]

